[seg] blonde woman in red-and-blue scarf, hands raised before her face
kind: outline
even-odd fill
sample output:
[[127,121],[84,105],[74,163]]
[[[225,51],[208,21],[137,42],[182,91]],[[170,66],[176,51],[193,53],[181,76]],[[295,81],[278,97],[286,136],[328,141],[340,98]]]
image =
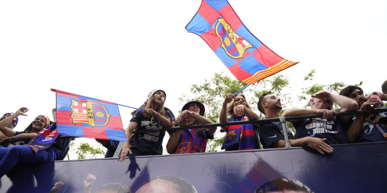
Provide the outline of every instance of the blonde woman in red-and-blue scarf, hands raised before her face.
[[[220,123],[248,121],[261,119],[254,113],[246,101],[244,94],[230,93],[224,99],[219,115]],[[221,132],[226,132],[221,149],[226,151],[260,149],[258,127],[255,124],[222,126]]]

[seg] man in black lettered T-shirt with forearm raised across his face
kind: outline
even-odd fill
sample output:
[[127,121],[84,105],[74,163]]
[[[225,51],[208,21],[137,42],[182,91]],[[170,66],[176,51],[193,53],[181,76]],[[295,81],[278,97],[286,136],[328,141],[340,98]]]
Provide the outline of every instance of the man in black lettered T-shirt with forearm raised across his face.
[[322,114],[322,118],[290,120],[296,129],[296,138],[315,137],[326,139],[327,144],[348,143],[342,124],[351,120],[349,116],[335,116],[337,112],[332,110],[333,103],[339,105],[340,112],[356,111],[358,105],[351,99],[328,91],[318,91],[310,99],[311,109],[287,109],[283,116],[301,116]]

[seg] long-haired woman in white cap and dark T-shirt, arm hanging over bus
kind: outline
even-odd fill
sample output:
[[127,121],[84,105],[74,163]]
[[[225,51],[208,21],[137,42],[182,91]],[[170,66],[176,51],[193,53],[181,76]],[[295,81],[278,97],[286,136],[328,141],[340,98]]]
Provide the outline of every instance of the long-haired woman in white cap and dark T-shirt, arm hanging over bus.
[[[118,161],[125,160],[127,154],[161,155],[163,153],[163,138],[165,131],[149,132],[145,134],[133,134],[135,130],[162,129],[173,127],[175,118],[172,112],[164,108],[166,94],[163,90],[155,89],[148,94],[147,101],[139,107],[144,111],[132,112],[132,119],[125,135],[128,141],[122,143],[122,151]],[[169,132],[168,132],[169,133]]]

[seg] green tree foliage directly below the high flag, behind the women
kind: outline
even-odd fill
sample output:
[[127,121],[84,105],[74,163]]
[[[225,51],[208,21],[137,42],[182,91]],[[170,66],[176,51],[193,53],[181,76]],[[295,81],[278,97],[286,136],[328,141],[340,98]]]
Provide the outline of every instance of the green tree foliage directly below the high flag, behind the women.
[[[286,76],[276,75],[268,79],[260,80],[247,86],[241,93],[244,93],[247,97],[247,101],[251,108],[257,111],[256,105],[258,98],[262,93],[269,92],[276,96],[290,101],[289,94],[282,94],[281,90],[289,84],[289,80]],[[222,107],[225,96],[228,93],[236,93],[241,88],[246,86],[235,78],[223,75],[221,73],[215,73],[214,77],[210,80],[205,79],[201,85],[194,84],[191,86],[190,94],[182,94],[179,98],[180,102],[185,103],[189,100],[195,100],[203,103],[206,107],[206,117],[214,123],[218,123],[219,109]],[[286,105],[284,105],[286,106]],[[261,117],[264,115],[261,114]],[[219,132],[215,134],[217,136]],[[208,141],[206,148],[207,152],[217,151],[223,144],[224,135],[222,137],[214,137]]]

